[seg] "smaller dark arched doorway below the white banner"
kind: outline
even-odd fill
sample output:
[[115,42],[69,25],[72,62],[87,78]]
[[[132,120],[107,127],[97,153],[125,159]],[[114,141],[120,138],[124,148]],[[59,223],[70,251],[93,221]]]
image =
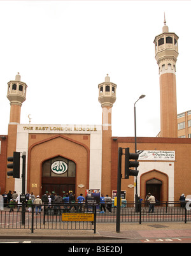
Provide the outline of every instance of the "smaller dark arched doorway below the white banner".
[[146,181],[146,195],[148,193],[151,193],[160,202],[162,200],[162,181],[155,178]]

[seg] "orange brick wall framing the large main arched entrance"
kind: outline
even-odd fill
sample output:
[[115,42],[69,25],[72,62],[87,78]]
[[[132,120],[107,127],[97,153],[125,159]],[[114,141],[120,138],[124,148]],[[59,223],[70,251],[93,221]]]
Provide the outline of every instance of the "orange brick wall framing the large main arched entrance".
[[[27,190],[32,191],[34,195],[41,195],[42,163],[56,156],[62,156],[76,163],[76,196],[80,193],[85,195],[89,182],[89,144],[89,135],[29,135],[31,146],[28,157]],[[33,183],[37,184],[37,188],[32,188]],[[84,188],[79,188],[79,184],[84,184]]]

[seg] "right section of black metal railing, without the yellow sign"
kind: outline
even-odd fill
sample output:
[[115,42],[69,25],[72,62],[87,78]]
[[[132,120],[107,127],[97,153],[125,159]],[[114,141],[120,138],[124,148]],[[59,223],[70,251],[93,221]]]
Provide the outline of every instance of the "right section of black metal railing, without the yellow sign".
[[[101,205],[101,204],[100,204]],[[120,222],[185,222],[191,221],[191,209],[187,209],[186,203],[160,202],[155,204],[154,211],[149,213],[149,204],[127,202],[121,205]],[[190,202],[191,206],[191,202]],[[117,207],[112,206],[111,213],[107,210],[97,214],[97,222],[116,222]],[[102,207],[103,208],[103,207]]]

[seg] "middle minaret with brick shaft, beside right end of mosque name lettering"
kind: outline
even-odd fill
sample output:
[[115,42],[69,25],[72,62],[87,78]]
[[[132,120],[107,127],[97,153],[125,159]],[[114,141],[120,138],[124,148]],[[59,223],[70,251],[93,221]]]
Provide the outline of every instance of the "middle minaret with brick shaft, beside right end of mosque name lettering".
[[102,188],[101,193],[111,191],[111,136],[112,136],[112,107],[116,101],[117,85],[110,82],[110,77],[107,75],[105,81],[98,85],[99,103],[102,107]]

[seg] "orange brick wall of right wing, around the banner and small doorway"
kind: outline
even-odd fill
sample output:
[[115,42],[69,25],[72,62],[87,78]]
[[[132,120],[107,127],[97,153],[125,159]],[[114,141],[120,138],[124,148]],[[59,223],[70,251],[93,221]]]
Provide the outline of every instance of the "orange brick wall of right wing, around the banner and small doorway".
[[[111,190],[117,190],[117,152],[118,147],[129,147],[134,153],[134,137],[119,137],[117,141],[112,141],[112,165],[111,165]],[[138,150],[171,150],[175,151],[174,161],[174,200],[179,200],[181,193],[191,194],[191,140],[178,138],[137,138]],[[151,161],[149,161],[151,162]],[[122,174],[124,177],[124,158],[122,160]],[[155,174],[155,175],[154,175]],[[148,172],[141,179],[141,196],[145,199],[145,182],[152,179],[153,175],[163,182],[163,200],[167,200],[168,187],[166,175],[159,172]],[[128,184],[134,184],[134,177],[122,179],[122,190],[127,190],[127,199],[134,200],[134,188],[128,188]]]

